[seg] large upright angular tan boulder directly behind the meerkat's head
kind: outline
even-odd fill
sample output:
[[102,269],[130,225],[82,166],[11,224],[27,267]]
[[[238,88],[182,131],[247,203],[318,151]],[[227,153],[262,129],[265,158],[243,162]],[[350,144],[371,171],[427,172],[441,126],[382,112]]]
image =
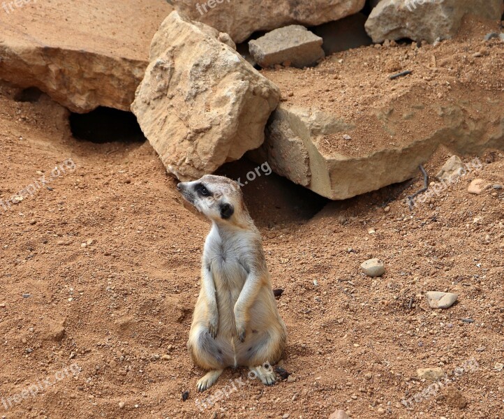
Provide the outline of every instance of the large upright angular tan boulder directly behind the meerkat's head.
[[259,147],[279,103],[279,88],[230,45],[227,34],[177,12],[152,40],[151,63],[131,109],[181,180],[214,172]]

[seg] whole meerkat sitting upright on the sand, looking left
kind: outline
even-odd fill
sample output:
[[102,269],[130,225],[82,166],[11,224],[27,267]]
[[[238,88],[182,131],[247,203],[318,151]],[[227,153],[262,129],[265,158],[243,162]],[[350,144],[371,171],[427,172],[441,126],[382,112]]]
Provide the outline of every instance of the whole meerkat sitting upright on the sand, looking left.
[[273,385],[272,367],[286,345],[266,267],[262,240],[242,191],[227,177],[205,175],[177,185],[184,199],[212,221],[202,256],[201,289],[187,348],[209,370],[198,390],[211,387],[226,367],[249,367]]

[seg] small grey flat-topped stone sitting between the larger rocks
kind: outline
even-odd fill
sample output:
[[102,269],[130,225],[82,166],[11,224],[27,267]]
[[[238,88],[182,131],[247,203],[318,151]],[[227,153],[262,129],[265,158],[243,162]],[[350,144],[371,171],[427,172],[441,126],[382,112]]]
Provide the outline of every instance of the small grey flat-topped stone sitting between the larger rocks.
[[250,41],[249,48],[253,59],[263,68],[283,63],[303,68],[324,58],[322,42],[320,36],[305,27],[291,24]]

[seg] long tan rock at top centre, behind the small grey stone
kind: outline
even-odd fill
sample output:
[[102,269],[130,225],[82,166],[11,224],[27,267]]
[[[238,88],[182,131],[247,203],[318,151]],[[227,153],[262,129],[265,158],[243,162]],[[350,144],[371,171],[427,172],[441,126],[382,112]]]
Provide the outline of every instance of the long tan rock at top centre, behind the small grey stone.
[[230,34],[241,43],[255,31],[288,24],[314,26],[353,15],[365,0],[173,0],[173,6],[193,20]]

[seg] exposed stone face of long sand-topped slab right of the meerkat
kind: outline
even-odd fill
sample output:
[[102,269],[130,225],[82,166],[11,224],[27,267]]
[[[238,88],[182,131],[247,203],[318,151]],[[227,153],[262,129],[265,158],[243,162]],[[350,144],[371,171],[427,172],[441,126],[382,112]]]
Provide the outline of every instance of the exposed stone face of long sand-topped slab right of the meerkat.
[[[374,124],[383,126],[384,132],[408,125],[402,116],[393,116],[398,112],[385,112],[390,115],[385,119],[381,111],[370,112],[376,114]],[[421,135],[410,137],[400,146],[382,146],[352,156],[334,152],[327,146],[334,138],[352,142],[346,134],[355,128],[352,122],[319,110],[282,103],[270,119],[264,144],[249,155],[255,161],[269,162],[274,172],[292,182],[327,198],[341,200],[410,179],[440,145],[458,154],[477,154],[485,148],[503,149],[504,117],[496,123],[492,115],[487,119],[473,115],[477,112],[465,102],[413,109],[408,112],[408,118],[440,118],[440,127],[426,126]],[[493,115],[498,115],[497,108]]]

